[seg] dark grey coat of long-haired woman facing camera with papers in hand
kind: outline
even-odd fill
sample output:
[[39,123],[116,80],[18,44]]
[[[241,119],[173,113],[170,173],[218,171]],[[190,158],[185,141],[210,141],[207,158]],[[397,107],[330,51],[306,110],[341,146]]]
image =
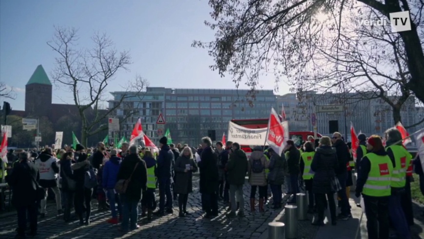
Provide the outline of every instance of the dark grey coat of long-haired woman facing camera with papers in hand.
[[[190,164],[193,170],[184,172],[186,164]],[[180,156],[175,161],[175,184],[174,193],[176,194],[188,194],[193,192],[193,173],[197,172],[197,165],[193,159],[189,159],[185,156]]]

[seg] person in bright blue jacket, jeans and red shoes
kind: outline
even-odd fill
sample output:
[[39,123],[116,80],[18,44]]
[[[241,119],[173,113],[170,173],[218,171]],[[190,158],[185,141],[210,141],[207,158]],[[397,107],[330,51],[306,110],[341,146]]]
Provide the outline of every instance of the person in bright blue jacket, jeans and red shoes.
[[[107,220],[107,222],[111,224],[119,223],[116,210],[119,212],[119,218],[122,218],[121,200],[119,194],[115,192],[116,178],[121,165],[121,158],[116,156],[117,153],[116,149],[111,150],[111,158],[105,163],[102,175],[102,186],[106,190],[106,197],[109,199],[112,213],[112,218]],[[118,205],[117,208],[115,203]]]

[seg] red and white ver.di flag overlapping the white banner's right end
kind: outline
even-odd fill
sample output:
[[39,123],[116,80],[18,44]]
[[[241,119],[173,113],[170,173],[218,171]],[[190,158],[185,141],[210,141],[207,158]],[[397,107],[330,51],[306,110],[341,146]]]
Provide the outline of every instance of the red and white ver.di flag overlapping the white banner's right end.
[[274,108],[271,108],[270,119],[268,121],[268,135],[267,142],[270,147],[281,155],[284,147],[286,146],[286,139],[284,139],[284,127],[281,125],[280,119]]

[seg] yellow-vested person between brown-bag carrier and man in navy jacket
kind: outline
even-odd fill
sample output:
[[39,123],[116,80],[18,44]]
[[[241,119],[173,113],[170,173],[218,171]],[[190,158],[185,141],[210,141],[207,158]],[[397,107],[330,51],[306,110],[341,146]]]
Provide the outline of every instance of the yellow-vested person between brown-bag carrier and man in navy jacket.
[[141,216],[145,216],[147,210],[147,219],[152,219],[152,213],[156,209],[156,159],[153,158],[152,152],[149,150],[144,151],[143,160],[146,162],[147,167],[147,190],[143,192],[141,205],[143,212]]

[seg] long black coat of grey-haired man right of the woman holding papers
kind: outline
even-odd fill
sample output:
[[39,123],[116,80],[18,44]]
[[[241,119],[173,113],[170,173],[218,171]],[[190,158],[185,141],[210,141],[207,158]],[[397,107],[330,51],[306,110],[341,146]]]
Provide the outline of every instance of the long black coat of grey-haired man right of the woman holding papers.
[[201,151],[200,159],[197,163],[200,170],[200,193],[212,194],[218,188],[218,159],[211,147],[206,147]]

